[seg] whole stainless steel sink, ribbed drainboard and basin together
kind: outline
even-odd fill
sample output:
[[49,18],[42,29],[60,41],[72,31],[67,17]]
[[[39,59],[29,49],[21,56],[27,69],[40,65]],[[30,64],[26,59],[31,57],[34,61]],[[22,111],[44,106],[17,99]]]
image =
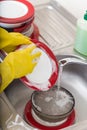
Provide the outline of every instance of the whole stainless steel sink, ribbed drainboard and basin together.
[[[75,57],[73,54],[79,56],[80,54],[73,49],[76,18],[61,7],[56,0],[50,0],[47,4],[36,6],[35,9],[35,24],[40,31],[39,40],[53,50],[58,60]],[[3,59],[2,54],[0,56]],[[84,58],[87,59],[87,57]],[[61,86],[68,89],[75,97],[75,124],[87,120],[87,65],[84,63],[67,64],[64,67]],[[26,130],[33,130],[33,127],[30,127],[24,120],[24,108],[33,91],[25,87],[18,79],[14,80],[0,95],[0,126],[4,130],[8,130],[6,123],[11,118],[17,121],[15,115],[19,122],[21,120],[21,123],[26,125]],[[14,122],[12,123],[14,124]],[[19,129],[22,130],[21,127]],[[18,129],[16,128],[16,130]]]

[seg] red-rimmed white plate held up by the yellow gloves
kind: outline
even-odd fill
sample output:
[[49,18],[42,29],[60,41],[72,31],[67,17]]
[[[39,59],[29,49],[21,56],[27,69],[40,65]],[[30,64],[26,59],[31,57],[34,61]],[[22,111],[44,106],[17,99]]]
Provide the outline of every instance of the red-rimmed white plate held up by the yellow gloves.
[[45,91],[51,88],[57,81],[58,61],[47,45],[37,40],[33,40],[33,43],[36,44],[37,49],[41,51],[42,55],[33,72],[22,77],[21,81],[27,87]]

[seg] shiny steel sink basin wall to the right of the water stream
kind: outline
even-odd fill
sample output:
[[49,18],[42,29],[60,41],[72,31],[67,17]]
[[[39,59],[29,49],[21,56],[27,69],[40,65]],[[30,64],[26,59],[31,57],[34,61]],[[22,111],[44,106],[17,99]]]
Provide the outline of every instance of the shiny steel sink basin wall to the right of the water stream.
[[61,86],[75,97],[76,122],[87,120],[87,65],[67,64],[64,67]]

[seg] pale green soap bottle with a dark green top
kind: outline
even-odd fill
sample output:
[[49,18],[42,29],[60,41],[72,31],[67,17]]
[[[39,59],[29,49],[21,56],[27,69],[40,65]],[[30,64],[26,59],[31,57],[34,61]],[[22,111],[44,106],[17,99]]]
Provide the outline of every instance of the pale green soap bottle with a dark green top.
[[77,32],[75,39],[75,50],[87,56],[87,11],[83,19],[77,21]]

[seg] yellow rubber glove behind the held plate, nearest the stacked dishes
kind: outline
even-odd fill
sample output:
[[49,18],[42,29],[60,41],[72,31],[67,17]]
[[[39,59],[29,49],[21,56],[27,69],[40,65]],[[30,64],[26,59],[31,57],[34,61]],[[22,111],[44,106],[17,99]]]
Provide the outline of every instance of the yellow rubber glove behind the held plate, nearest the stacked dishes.
[[32,43],[27,36],[17,32],[8,32],[0,27],[0,49],[7,53],[14,51],[16,46]]

